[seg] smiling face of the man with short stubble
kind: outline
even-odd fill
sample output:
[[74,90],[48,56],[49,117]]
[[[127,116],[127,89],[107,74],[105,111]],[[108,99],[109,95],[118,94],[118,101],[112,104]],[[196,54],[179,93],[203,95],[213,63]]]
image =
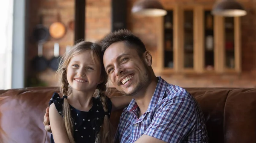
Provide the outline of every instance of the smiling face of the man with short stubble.
[[129,48],[124,42],[110,45],[103,55],[103,63],[113,85],[125,95],[135,95],[150,81],[147,56],[138,55],[135,48]]

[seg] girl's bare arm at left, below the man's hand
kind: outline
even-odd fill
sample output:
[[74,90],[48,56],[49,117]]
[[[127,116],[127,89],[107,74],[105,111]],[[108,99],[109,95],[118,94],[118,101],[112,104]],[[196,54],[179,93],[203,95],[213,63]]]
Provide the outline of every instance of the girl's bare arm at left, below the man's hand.
[[52,135],[55,143],[70,143],[64,126],[64,121],[58,113],[54,104],[49,108],[49,120],[51,123]]

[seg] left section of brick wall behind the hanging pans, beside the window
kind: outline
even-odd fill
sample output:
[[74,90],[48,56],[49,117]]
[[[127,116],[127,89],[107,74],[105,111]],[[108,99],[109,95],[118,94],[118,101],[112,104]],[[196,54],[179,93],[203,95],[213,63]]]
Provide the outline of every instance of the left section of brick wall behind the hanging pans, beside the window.
[[[66,34],[61,39],[52,39],[43,44],[43,54],[46,59],[50,60],[53,57],[54,43],[58,42],[60,46],[60,55],[66,51],[67,45],[74,43],[74,31],[69,28],[69,22],[74,20],[74,0],[29,0],[28,6],[28,41],[27,41],[27,86],[56,85],[57,78],[55,71],[48,68],[46,71],[36,73],[32,70],[31,61],[37,56],[38,45],[34,42],[32,31],[39,24],[39,16],[43,15],[43,25],[47,28],[57,21],[57,14],[60,13],[61,22],[66,26]],[[40,83],[35,84],[35,79],[40,80]]]

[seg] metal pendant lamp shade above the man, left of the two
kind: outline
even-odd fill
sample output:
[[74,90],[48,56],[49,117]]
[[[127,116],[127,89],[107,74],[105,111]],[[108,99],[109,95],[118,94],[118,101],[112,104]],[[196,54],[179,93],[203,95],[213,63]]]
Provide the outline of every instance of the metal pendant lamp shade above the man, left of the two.
[[149,17],[160,17],[167,14],[167,11],[158,0],[138,0],[134,3],[131,12]]

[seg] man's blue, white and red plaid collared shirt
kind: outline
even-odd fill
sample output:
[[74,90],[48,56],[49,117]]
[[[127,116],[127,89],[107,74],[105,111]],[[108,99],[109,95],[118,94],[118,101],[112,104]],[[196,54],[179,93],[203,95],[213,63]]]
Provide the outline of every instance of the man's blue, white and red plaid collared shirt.
[[195,98],[185,89],[157,78],[148,109],[140,118],[134,99],[122,112],[116,140],[134,143],[140,136],[149,135],[167,143],[208,143],[204,115]]

